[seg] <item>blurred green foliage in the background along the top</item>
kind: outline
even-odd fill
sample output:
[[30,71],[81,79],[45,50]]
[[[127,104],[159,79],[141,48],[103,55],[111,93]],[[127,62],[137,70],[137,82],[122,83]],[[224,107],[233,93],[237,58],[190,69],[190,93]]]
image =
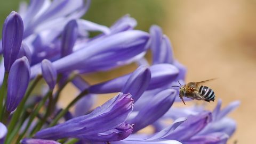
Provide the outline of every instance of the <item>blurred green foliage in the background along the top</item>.
[[[58,0],[57,0],[58,1]],[[11,11],[18,11],[21,0],[0,0],[0,27]],[[25,2],[29,2],[28,0]],[[117,19],[130,14],[138,22],[136,29],[148,31],[151,24],[162,25],[165,20],[164,5],[167,0],[92,0],[89,11],[84,19],[95,23],[111,26]],[[170,13],[169,13],[170,14]]]

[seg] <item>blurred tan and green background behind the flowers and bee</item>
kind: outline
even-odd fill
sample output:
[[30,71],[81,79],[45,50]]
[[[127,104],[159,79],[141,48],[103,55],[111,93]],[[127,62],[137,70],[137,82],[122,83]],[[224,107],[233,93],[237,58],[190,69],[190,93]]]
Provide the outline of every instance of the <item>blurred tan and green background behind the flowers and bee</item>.
[[[11,10],[17,10],[20,1],[0,1],[2,24]],[[207,86],[222,99],[223,106],[233,100],[241,101],[241,106],[229,115],[237,121],[237,131],[229,143],[235,140],[239,144],[253,143],[256,129],[256,1],[94,0],[84,18],[110,26],[126,13],[137,19],[137,29],[148,31],[151,24],[163,28],[171,39],[175,58],[187,66],[187,82],[218,78]],[[97,83],[132,70],[121,67],[107,73],[86,75],[85,79]],[[70,86],[62,94],[62,105],[66,105],[77,92]],[[100,96],[97,105],[113,96]],[[215,105],[210,103],[208,107],[212,109]]]

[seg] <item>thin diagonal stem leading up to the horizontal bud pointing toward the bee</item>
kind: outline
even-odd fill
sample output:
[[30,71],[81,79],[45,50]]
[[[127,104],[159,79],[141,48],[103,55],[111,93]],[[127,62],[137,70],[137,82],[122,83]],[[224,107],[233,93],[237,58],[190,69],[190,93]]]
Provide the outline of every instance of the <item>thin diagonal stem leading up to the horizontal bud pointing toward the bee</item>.
[[82,97],[84,97],[85,95],[89,94],[88,90],[85,89],[84,91],[82,91],[75,99],[73,99],[71,101],[71,103],[68,104],[68,106],[65,109],[62,109],[62,111],[54,118],[54,120],[51,122],[51,124],[49,125],[49,127],[54,126],[55,124],[57,124],[57,122],[60,120],[60,118],[65,115],[69,108],[71,106],[73,106],[79,99],[81,99]]

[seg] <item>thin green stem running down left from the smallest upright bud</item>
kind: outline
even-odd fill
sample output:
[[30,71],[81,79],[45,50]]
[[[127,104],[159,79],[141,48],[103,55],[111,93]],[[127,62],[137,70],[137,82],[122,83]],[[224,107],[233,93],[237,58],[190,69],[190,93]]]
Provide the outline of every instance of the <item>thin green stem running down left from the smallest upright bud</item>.
[[44,105],[45,101],[47,100],[47,98],[50,95],[52,95],[52,91],[51,90],[49,92],[47,92],[47,94],[44,96],[44,98],[40,101],[40,103],[34,109],[34,112],[30,115],[30,118],[29,118],[29,121],[27,123],[27,126],[26,126],[25,130],[20,134],[17,142],[19,142],[23,138],[23,136],[26,134],[27,130],[29,129],[29,126],[31,125],[31,123],[33,122],[34,118],[37,116],[37,114],[39,113],[40,109],[42,108],[42,106]]

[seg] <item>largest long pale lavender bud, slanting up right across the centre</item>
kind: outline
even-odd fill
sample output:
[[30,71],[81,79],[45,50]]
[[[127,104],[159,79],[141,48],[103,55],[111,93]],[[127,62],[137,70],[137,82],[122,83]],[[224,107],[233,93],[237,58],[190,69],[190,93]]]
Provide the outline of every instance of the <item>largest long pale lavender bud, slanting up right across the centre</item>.
[[[91,43],[76,52],[53,62],[58,72],[75,69],[87,71],[108,70],[119,65],[131,63],[130,60],[147,49],[148,33],[139,30],[120,32]],[[68,63],[67,63],[68,62]],[[84,66],[86,65],[86,66]],[[38,66],[31,68],[31,77],[41,72]]]

